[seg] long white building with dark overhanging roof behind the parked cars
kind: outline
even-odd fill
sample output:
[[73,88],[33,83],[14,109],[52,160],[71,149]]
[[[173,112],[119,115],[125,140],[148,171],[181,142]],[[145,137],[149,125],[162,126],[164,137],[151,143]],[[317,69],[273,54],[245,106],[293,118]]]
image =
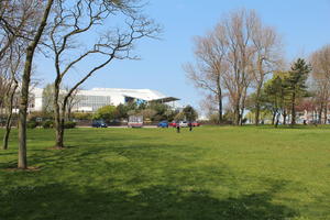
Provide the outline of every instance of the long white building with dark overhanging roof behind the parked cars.
[[[42,111],[44,97],[43,89],[34,88],[31,91],[30,111]],[[175,97],[167,97],[160,91],[151,89],[118,89],[118,88],[94,88],[91,90],[79,90],[76,95],[74,111],[94,112],[108,105],[118,106],[128,102],[162,102],[176,107]]]

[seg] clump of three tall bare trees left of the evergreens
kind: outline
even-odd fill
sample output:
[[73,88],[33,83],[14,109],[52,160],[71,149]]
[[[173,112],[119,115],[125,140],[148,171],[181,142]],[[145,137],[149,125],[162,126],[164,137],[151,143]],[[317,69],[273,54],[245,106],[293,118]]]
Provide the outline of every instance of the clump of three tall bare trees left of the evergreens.
[[206,36],[195,40],[196,64],[186,64],[187,77],[216,100],[220,123],[224,95],[241,124],[249,89],[260,96],[266,76],[282,65],[282,43],[275,29],[266,26],[254,11],[239,10],[224,16]]

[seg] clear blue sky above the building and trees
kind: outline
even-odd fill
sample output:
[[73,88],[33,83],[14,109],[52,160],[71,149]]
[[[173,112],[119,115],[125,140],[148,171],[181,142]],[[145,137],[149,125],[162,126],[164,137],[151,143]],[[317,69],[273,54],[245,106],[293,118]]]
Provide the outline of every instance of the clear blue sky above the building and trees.
[[[182,105],[199,107],[204,96],[182,68],[194,61],[193,37],[211,30],[224,13],[241,8],[256,10],[264,23],[276,28],[288,61],[330,44],[330,0],[150,0],[145,13],[164,28],[162,40],[138,43],[135,53],[141,61],[114,62],[84,88],[150,88],[180,98]],[[52,63],[37,58],[36,64],[37,78],[43,84],[52,81]]]

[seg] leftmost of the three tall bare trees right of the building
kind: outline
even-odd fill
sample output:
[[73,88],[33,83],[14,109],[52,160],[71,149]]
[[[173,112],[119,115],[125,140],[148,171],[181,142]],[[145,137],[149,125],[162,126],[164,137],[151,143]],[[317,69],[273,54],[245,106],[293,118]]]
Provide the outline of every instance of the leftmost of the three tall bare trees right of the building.
[[195,38],[196,65],[184,66],[187,78],[195,87],[207,90],[216,97],[218,106],[218,123],[222,121],[222,75],[228,72],[228,41],[224,26],[219,24],[212,32],[204,37]]

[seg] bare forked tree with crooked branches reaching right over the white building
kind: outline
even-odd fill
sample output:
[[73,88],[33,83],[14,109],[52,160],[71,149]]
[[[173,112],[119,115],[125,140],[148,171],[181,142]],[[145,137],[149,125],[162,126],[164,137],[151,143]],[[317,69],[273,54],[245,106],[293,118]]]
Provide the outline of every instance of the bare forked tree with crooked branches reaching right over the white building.
[[[55,147],[64,147],[65,114],[69,99],[77,88],[113,59],[136,58],[130,54],[134,42],[143,37],[153,37],[153,34],[160,31],[160,28],[152,21],[140,15],[135,0],[77,0],[74,4],[72,1],[57,1],[50,31],[56,69],[54,81]],[[109,18],[116,15],[125,18],[125,28],[105,30]],[[97,28],[100,26],[103,28],[102,34],[92,38],[92,33],[96,33]],[[90,42],[92,43],[84,48],[86,44],[79,42],[78,37],[87,33],[91,35]],[[64,96],[63,103],[59,103],[59,88],[64,77],[90,57],[97,57],[99,63],[95,63],[89,70],[81,70],[80,74],[84,76],[73,84]]]

